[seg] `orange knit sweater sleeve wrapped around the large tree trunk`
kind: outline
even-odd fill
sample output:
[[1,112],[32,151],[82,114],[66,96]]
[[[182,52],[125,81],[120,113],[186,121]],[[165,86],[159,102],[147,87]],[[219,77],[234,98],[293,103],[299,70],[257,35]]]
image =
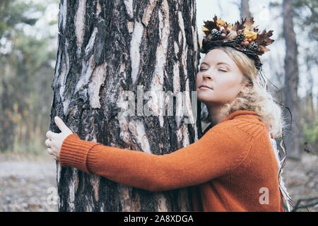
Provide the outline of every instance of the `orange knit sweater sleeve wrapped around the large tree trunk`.
[[247,156],[248,140],[244,131],[224,123],[173,153],[153,155],[82,141],[73,133],[64,139],[59,160],[62,166],[99,174],[127,186],[166,191],[228,174]]

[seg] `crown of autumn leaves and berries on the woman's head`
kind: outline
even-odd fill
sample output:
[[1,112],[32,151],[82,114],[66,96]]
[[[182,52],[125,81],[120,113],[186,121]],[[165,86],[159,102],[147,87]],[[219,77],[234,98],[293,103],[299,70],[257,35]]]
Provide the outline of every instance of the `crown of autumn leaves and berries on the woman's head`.
[[202,30],[204,38],[200,41],[200,52],[206,54],[214,47],[232,47],[243,52],[250,59],[254,60],[257,69],[261,69],[259,56],[269,51],[267,45],[274,42],[269,37],[273,30],[259,32],[258,26],[254,27],[254,18],[245,18],[240,23],[232,25],[214,16],[213,20],[204,21]]

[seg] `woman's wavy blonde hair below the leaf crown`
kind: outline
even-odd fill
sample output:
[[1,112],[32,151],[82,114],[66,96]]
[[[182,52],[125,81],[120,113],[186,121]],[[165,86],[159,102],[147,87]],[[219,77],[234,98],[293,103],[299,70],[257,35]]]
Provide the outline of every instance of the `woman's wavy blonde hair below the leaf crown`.
[[216,47],[214,49],[223,50],[235,61],[235,64],[243,73],[243,85],[245,85],[232,102],[225,103],[221,109],[221,118],[225,118],[238,110],[254,111],[264,121],[274,137],[281,136],[283,128],[286,126],[283,111],[274,102],[272,95],[264,88],[264,85],[261,84],[259,71],[255,67],[254,61],[244,53],[231,47]]

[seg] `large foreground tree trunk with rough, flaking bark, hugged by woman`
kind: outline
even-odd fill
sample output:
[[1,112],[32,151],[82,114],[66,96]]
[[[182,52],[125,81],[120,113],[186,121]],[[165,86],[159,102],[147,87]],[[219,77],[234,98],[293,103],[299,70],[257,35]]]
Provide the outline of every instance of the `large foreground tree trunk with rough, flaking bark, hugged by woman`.
[[[196,95],[183,95],[180,106],[186,110],[180,117],[176,107],[172,116],[163,115],[160,106],[166,102],[158,95],[195,90],[199,42],[194,0],[61,0],[58,40],[52,131],[60,132],[54,124],[58,115],[82,140],[155,155],[201,136],[196,105],[191,105]],[[149,90],[155,92],[147,99],[141,91],[146,96]],[[57,186],[59,211],[192,210],[190,188],[150,192],[59,162]]]

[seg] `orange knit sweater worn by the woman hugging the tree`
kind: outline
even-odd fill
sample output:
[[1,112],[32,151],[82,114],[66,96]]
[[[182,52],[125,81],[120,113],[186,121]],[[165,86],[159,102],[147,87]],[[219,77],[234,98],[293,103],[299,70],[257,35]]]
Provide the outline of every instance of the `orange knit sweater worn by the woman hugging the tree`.
[[148,191],[191,186],[194,211],[279,211],[281,205],[269,133],[252,111],[233,112],[199,141],[170,154],[109,147],[73,133],[59,159],[62,166]]

